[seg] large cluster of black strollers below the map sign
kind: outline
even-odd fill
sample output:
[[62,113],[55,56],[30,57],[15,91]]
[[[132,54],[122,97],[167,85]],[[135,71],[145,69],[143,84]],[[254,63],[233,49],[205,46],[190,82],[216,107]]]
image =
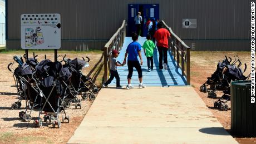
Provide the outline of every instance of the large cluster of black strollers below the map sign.
[[[75,104],[75,108],[81,108],[81,95],[85,100],[94,100],[99,92],[98,87],[82,73],[82,69],[88,67],[90,58],[69,59],[66,55],[62,61],[52,62],[44,59],[37,61],[35,53],[32,58],[24,59],[14,56],[18,67],[13,68],[13,63],[8,64],[8,69],[13,73],[17,88],[18,101],[12,103],[12,110],[18,110],[23,103],[24,111],[19,112],[19,118],[31,121],[31,113],[39,112],[34,120],[36,126],[41,127],[43,122],[51,122],[52,127],[61,127],[62,122],[70,122],[70,117],[65,109]],[[65,63],[65,64],[62,64]]]

